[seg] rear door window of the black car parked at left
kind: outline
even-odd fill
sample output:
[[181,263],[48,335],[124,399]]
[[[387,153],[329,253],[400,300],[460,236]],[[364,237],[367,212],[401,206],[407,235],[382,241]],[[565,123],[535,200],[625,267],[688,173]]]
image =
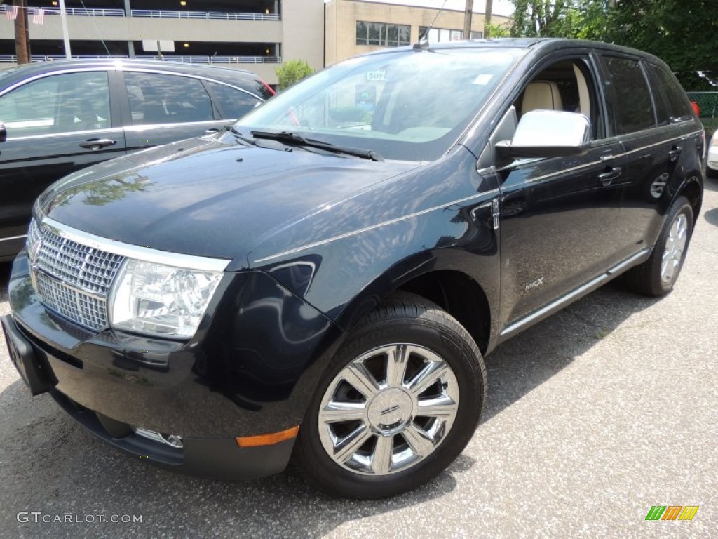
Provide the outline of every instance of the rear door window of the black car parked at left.
[[212,121],[212,101],[196,78],[125,73],[133,125]]

